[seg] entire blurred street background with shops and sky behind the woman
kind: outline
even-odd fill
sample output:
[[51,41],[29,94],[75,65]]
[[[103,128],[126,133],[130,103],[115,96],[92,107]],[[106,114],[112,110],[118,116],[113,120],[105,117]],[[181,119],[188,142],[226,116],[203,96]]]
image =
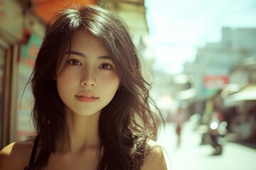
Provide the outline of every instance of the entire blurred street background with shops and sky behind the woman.
[[[107,6],[127,23],[167,122],[158,142],[169,169],[256,169],[255,0],[0,0],[0,149],[33,132],[27,82],[50,17],[74,3]],[[203,141],[216,125],[221,154]]]

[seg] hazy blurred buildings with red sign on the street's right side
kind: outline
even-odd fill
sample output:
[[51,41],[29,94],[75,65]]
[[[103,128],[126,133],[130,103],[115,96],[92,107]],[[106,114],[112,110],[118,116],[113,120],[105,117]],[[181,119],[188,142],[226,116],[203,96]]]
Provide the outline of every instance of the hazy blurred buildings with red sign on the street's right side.
[[191,113],[207,121],[207,115],[221,111],[230,132],[240,139],[256,137],[255,72],[256,28],[223,28],[221,42],[206,44],[194,62],[184,64],[183,73],[193,75],[196,91],[185,99]]

